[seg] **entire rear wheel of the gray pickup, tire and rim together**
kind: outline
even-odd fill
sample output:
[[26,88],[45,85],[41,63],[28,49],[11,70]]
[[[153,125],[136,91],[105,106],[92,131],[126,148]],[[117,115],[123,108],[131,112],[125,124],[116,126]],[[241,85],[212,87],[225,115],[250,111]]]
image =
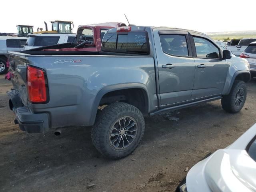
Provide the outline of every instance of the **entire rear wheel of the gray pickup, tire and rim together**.
[[144,117],[138,108],[123,102],[112,103],[97,114],[92,142],[103,156],[123,158],[137,148],[144,128]]

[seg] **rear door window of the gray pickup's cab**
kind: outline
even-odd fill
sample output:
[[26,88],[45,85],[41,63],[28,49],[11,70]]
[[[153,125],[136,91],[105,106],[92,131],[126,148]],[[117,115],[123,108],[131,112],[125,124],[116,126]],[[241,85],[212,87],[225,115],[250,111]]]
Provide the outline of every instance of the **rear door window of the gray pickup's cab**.
[[162,50],[174,56],[188,56],[188,44],[185,35],[160,35]]

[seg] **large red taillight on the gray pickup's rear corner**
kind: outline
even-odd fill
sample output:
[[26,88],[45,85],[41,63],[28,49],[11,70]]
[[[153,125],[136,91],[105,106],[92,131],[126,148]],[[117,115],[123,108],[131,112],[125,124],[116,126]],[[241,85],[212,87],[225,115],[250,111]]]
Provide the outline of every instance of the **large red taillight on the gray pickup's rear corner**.
[[44,103],[47,101],[46,78],[42,69],[27,66],[27,87],[30,102]]

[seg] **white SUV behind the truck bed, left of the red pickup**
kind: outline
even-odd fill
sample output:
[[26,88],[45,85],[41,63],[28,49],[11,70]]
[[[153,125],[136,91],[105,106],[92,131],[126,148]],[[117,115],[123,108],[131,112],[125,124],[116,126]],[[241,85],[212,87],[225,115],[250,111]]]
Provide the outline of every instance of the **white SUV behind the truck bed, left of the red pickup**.
[[43,46],[76,42],[76,34],[42,33],[28,34],[28,40],[24,46],[25,50]]

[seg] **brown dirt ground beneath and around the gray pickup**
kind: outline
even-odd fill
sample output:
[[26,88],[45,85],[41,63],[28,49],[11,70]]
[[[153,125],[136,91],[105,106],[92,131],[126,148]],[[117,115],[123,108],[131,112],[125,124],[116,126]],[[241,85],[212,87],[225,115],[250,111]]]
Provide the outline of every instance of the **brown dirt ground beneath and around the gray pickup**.
[[[241,112],[228,114],[220,101],[147,117],[144,138],[134,154],[121,160],[102,157],[90,128],[64,128],[26,134],[14,125],[0,76],[0,191],[3,192],[166,192],[174,191],[191,168],[209,152],[225,148],[256,122],[256,82],[247,84]],[[91,186],[91,187],[89,187]]]

